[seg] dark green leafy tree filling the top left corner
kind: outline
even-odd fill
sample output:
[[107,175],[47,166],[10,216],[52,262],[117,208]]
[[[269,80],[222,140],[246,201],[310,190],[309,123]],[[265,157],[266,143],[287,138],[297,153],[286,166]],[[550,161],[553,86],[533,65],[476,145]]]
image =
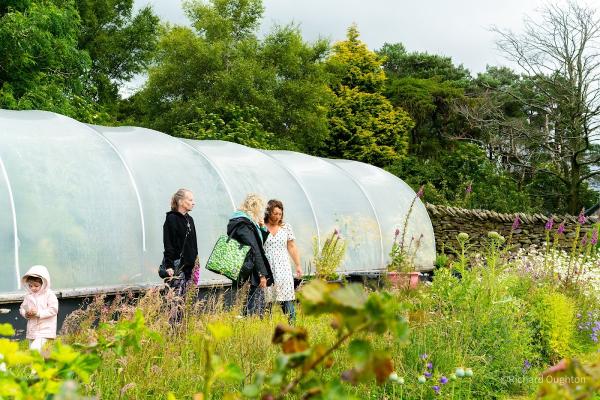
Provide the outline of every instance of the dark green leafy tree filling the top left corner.
[[78,48],[74,1],[14,1],[0,9],[0,107],[92,121],[91,59]]

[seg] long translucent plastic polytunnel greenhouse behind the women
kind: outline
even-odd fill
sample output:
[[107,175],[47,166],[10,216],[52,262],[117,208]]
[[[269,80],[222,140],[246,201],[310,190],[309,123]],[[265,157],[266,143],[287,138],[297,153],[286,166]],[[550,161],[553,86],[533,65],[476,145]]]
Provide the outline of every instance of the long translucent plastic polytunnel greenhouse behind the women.
[[[348,244],[342,274],[383,270],[405,225],[407,240],[419,238],[416,265],[430,269],[435,259],[425,207],[417,200],[405,224],[415,193],[377,167],[0,110],[0,295],[20,292],[35,264],[48,267],[58,291],[159,283],[162,224],[181,187],[195,195],[202,263],[250,192],[283,201],[306,273],[313,238],[323,243],[334,229]],[[229,283],[206,270],[200,279]]]

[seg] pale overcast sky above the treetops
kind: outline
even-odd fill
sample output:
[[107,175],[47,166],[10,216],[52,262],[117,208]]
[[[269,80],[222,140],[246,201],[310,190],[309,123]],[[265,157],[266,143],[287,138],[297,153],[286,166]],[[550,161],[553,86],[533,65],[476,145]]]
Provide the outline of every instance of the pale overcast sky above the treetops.
[[[596,0],[598,1],[598,0]],[[361,39],[376,50],[401,42],[408,51],[452,57],[473,74],[486,65],[506,64],[496,50],[490,26],[519,31],[525,14],[534,15],[543,0],[264,0],[261,32],[274,24],[299,24],[304,38],[343,40],[356,23]],[[164,21],[188,25],[178,0],[135,0],[150,4]],[[588,3],[588,4],[593,4]]]

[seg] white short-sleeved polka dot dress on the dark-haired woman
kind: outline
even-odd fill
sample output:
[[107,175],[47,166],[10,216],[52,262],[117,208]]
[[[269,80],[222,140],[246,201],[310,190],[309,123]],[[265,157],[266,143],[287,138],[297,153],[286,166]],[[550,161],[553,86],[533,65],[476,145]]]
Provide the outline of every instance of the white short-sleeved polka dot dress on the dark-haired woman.
[[288,224],[283,224],[275,235],[270,234],[265,242],[265,253],[273,271],[273,286],[266,293],[267,301],[295,300],[294,275],[287,250],[287,242],[294,240],[294,232]]

